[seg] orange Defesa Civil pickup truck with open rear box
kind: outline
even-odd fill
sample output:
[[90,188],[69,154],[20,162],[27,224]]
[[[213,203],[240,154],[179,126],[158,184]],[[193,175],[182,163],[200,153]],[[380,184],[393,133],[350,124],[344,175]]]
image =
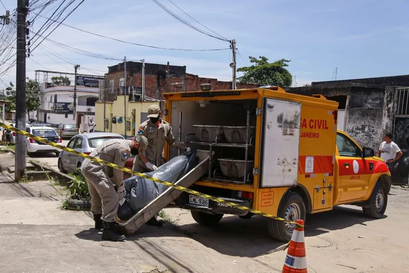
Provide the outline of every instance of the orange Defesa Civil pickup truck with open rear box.
[[[202,85],[201,91],[164,96],[174,136],[212,154],[208,174],[191,189],[290,221],[341,204],[361,206],[371,218],[384,214],[388,166],[337,130],[337,102],[278,87],[213,91]],[[166,160],[177,155],[166,145]],[[224,214],[253,216],[188,193],[175,204],[190,209],[201,225],[215,225]],[[267,219],[267,228],[288,241],[294,226]]]

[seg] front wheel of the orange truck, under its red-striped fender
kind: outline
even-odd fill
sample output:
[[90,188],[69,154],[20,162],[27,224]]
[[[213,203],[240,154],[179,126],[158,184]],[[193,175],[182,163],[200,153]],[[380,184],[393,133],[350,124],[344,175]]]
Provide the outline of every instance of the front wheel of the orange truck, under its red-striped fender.
[[379,219],[387,209],[388,194],[384,185],[379,184],[372,192],[369,199],[369,207],[362,207],[362,212],[366,217]]

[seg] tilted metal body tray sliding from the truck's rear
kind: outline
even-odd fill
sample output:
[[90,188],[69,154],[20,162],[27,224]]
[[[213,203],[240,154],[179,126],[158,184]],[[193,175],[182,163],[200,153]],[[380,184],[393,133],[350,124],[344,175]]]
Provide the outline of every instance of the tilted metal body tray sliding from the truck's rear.
[[[214,153],[212,153],[213,155]],[[199,158],[197,164],[189,173],[180,178],[174,184],[183,187],[190,187],[200,177],[207,174],[209,171],[210,152],[198,150],[196,157]],[[137,230],[154,217],[161,209],[169,205],[173,200],[177,199],[182,192],[175,188],[167,188],[165,192],[153,199],[149,204],[142,208],[137,214],[132,216],[126,222],[120,222],[119,226],[125,235],[132,235]]]

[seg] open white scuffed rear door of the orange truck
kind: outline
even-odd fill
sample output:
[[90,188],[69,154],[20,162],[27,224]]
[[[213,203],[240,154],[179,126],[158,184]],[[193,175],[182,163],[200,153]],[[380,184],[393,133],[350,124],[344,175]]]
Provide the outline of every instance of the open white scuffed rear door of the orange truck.
[[301,103],[265,98],[259,187],[297,184]]

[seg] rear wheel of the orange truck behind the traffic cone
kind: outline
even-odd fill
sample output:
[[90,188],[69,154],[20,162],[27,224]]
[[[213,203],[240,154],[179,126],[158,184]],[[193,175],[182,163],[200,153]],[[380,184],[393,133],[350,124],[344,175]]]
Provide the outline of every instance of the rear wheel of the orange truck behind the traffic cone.
[[[305,215],[305,205],[301,196],[293,192],[287,193],[283,198],[277,216],[295,222],[297,219],[305,221]],[[272,238],[282,242],[288,242],[291,239],[294,224],[268,219],[267,229]]]

